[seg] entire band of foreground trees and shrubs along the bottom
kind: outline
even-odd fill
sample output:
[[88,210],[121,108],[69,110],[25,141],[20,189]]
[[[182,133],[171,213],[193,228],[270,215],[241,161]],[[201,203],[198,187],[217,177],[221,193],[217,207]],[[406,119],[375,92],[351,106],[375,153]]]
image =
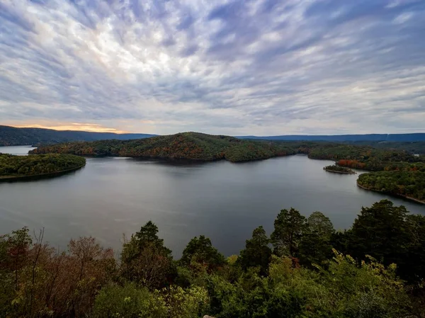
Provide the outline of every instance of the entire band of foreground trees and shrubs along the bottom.
[[[59,251],[23,228],[0,237],[0,317],[419,317],[425,217],[388,200],[336,232],[321,212],[281,210],[228,259],[191,239],[179,261],[147,222],[120,259],[94,238]],[[376,261],[376,260],[379,260]],[[422,316],[421,316],[422,317]]]

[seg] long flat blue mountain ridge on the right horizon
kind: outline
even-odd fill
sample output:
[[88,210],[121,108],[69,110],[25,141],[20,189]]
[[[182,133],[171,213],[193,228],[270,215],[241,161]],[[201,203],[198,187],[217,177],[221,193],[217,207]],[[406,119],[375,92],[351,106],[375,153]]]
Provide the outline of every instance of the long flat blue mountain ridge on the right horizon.
[[425,141],[425,133],[412,134],[367,134],[367,135],[280,135],[280,136],[237,136],[240,139],[252,140],[305,140],[327,142],[421,142]]

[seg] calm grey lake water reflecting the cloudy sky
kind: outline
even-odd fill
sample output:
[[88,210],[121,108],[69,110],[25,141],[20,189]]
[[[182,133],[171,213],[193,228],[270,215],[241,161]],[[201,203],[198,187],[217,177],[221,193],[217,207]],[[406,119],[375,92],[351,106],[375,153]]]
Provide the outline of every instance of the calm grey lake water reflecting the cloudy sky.
[[[0,147],[0,152],[28,149]],[[244,247],[255,227],[263,225],[270,234],[284,208],[306,216],[324,212],[336,229],[350,227],[362,206],[384,198],[425,215],[424,205],[358,188],[357,175],[322,169],[331,163],[305,156],[244,164],[87,159],[83,169],[65,176],[0,183],[0,234],[45,227],[47,240],[62,249],[70,238],[88,235],[119,249],[123,234],[152,220],[176,257],[200,234],[230,255]]]

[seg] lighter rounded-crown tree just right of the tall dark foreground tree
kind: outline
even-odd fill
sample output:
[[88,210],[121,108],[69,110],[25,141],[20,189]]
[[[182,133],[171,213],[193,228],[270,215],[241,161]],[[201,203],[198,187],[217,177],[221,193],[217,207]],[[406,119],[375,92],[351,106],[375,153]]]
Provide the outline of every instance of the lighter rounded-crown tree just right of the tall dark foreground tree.
[[331,237],[334,225],[322,212],[312,212],[307,218],[307,226],[299,246],[299,257],[302,264],[320,264],[332,255]]

